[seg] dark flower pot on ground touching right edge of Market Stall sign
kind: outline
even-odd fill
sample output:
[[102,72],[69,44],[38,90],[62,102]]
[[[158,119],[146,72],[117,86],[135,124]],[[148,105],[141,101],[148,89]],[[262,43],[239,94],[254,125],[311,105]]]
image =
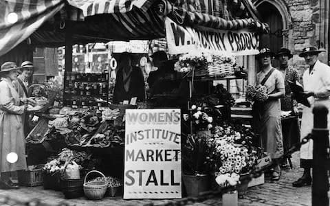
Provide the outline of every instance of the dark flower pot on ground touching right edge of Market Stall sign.
[[198,196],[200,192],[210,190],[210,176],[208,174],[182,174],[182,180],[187,196]]

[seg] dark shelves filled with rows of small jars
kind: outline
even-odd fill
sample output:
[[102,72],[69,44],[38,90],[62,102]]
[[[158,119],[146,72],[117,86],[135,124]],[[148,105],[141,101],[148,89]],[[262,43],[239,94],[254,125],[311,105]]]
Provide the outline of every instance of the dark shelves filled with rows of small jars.
[[[72,108],[107,106],[109,73],[65,72],[63,103]],[[100,100],[100,101],[96,101]]]

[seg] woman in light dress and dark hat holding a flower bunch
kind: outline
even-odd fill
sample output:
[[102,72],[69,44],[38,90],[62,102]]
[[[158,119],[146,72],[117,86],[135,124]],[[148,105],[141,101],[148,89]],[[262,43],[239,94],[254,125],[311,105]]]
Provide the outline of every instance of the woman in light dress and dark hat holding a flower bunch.
[[280,71],[272,67],[274,53],[268,48],[261,49],[258,58],[261,71],[257,73],[257,84],[267,87],[268,100],[256,103],[259,111],[259,134],[263,148],[275,163],[272,180],[278,181],[281,176],[279,157],[283,155],[281,128],[281,101],[285,93],[284,79]]

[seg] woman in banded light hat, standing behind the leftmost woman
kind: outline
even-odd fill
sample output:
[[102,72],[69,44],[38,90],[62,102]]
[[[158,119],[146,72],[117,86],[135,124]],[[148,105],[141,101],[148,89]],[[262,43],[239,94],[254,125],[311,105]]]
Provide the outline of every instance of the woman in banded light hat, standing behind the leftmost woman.
[[[28,88],[30,86],[29,80],[32,74],[36,71],[36,67],[33,66],[33,63],[30,61],[25,61],[21,65],[21,74],[17,77],[17,80],[14,80],[12,84],[14,85],[15,89],[19,93],[19,98],[23,102],[31,102],[35,104],[32,98],[29,98],[28,95]],[[23,126],[24,126],[24,135],[28,135],[30,132],[28,126],[28,115],[26,113],[23,114]]]

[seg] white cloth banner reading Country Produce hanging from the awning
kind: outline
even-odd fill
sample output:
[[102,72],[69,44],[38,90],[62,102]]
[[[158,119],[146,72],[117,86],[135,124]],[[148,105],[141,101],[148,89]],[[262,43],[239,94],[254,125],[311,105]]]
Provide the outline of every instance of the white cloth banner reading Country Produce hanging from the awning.
[[259,54],[259,34],[248,30],[183,27],[168,17],[165,19],[165,27],[170,54],[186,54],[192,50],[212,54],[230,53],[235,56]]

